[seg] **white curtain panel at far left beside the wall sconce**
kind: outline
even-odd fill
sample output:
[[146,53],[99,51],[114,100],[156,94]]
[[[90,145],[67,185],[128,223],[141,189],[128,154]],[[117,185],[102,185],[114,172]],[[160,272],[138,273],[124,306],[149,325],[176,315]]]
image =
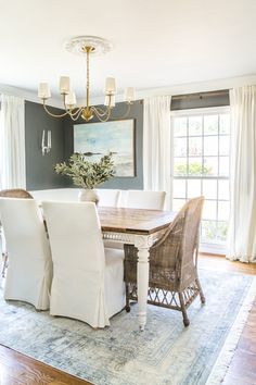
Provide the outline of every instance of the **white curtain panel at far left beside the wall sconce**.
[[0,188],[26,188],[24,99],[0,100]]

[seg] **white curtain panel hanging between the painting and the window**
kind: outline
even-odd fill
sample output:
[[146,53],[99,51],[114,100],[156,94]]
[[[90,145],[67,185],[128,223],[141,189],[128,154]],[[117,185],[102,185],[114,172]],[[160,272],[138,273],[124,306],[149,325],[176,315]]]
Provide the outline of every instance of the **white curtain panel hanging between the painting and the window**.
[[169,96],[148,98],[143,113],[144,189],[166,191],[166,209],[171,199],[170,100]]

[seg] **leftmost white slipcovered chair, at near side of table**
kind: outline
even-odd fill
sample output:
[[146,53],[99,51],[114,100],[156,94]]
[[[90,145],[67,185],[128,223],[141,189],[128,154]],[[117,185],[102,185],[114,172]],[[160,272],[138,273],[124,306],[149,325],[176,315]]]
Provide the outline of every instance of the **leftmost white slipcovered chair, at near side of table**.
[[37,310],[49,309],[51,251],[36,201],[0,198],[0,219],[9,258],[4,299],[26,301]]

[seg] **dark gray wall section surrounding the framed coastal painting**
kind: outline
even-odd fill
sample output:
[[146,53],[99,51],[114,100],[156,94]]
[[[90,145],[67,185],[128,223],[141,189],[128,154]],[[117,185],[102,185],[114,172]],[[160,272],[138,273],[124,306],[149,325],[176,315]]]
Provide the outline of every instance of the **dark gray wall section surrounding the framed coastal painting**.
[[[113,109],[113,119],[118,120],[126,112],[125,103],[117,103]],[[142,135],[143,135],[143,103],[137,101],[131,105],[130,113],[126,119],[135,120],[135,149],[136,149],[136,176],[135,177],[114,177],[111,181],[102,184],[101,188],[120,188],[120,189],[141,189],[143,188],[143,171],[142,171]],[[97,122],[92,120],[91,123]],[[85,121],[80,120],[76,124]],[[87,123],[90,124],[90,123]],[[64,119],[64,132],[65,132],[65,159],[74,152],[74,122],[65,117]]]

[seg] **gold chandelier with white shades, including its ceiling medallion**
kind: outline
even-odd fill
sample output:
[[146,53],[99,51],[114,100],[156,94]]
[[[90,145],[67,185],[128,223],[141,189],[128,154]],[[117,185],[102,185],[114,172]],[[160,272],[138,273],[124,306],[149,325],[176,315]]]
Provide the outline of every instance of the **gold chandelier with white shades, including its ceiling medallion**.
[[[105,53],[112,49],[110,41],[97,36],[78,36],[66,44],[66,49],[69,52],[85,55],[87,63],[87,83],[86,83],[86,105],[76,107],[76,95],[71,89],[71,80],[68,76],[61,76],[60,78],[60,94],[63,99],[65,112],[62,114],[52,113],[46,105],[47,100],[51,97],[51,91],[48,83],[40,83],[38,88],[38,97],[42,100],[46,112],[53,117],[63,117],[69,115],[73,121],[79,117],[89,122],[95,116],[101,122],[106,122],[111,117],[111,112],[115,107],[116,85],[113,77],[107,77],[105,83],[105,101],[104,107],[90,105],[90,54]],[[132,87],[126,88],[125,101],[127,103],[127,111],[124,119],[129,114],[130,105],[135,101],[135,89]]]

